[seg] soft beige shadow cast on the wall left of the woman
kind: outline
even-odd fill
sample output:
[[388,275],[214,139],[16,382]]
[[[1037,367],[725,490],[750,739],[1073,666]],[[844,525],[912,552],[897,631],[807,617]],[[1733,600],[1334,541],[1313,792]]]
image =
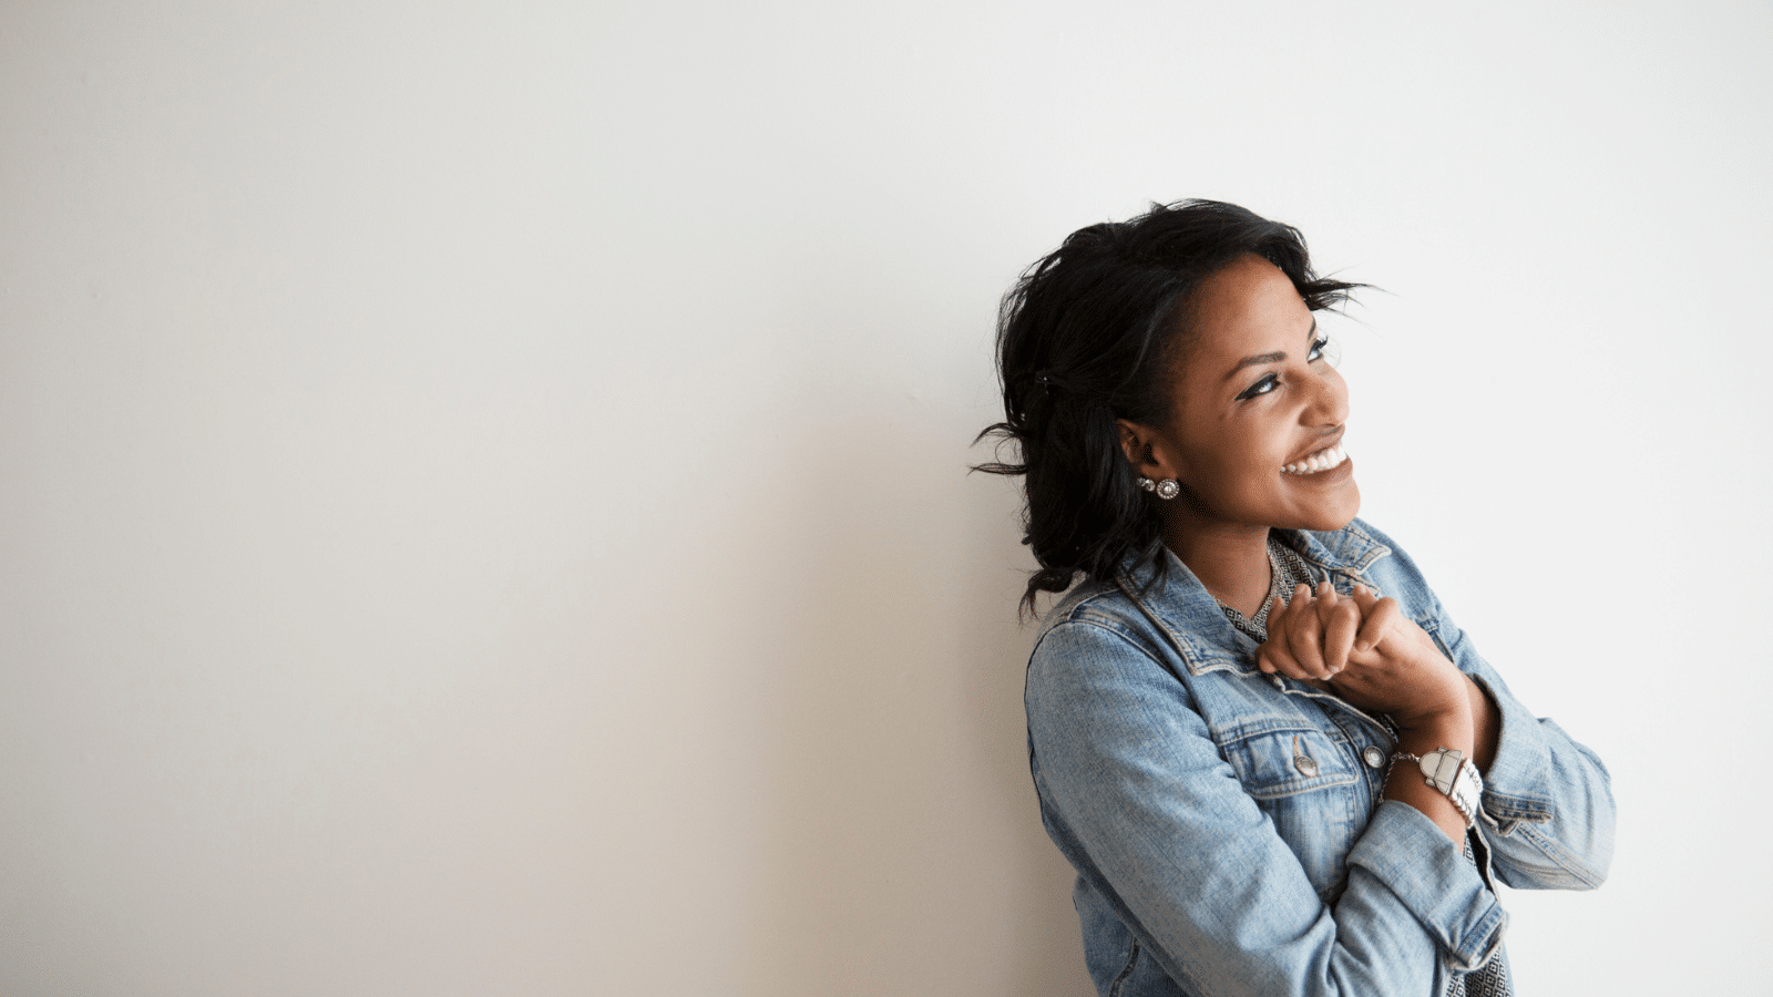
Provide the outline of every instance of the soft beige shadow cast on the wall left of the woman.
[[[970,412],[851,392],[791,447],[764,779],[766,898],[745,992],[1089,992],[1071,871],[1021,711],[1019,497],[966,474]],[[833,475],[830,454],[867,454]]]

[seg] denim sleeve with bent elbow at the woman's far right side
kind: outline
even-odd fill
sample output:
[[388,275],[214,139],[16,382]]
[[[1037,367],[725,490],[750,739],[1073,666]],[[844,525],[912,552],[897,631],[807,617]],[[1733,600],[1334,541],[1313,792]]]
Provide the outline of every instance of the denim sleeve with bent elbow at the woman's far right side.
[[1464,632],[1434,603],[1436,633],[1459,671],[1500,713],[1496,758],[1484,773],[1484,843],[1496,876],[1516,889],[1594,889],[1613,860],[1613,791],[1599,756],[1527,711]]

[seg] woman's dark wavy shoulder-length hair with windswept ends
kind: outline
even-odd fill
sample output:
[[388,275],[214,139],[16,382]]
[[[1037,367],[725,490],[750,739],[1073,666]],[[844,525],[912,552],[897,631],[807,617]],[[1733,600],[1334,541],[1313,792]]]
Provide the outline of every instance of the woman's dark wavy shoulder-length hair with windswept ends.
[[1243,255],[1280,268],[1312,310],[1362,287],[1317,277],[1293,225],[1236,204],[1177,200],[1071,232],[1004,296],[1004,422],[975,442],[1014,442],[1021,463],[975,470],[1025,475],[1023,543],[1039,564],[1025,612],[1078,573],[1117,578],[1128,557],[1135,568],[1154,564],[1152,582],[1163,577],[1158,513],[1135,483],[1115,420],[1170,419],[1175,365],[1199,334],[1188,328],[1188,305],[1207,277]]

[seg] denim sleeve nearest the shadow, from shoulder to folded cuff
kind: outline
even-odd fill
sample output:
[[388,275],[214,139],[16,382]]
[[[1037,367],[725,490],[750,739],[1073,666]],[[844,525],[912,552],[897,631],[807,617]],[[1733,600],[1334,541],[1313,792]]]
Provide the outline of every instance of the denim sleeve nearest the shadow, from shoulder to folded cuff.
[[1197,993],[1434,993],[1507,915],[1459,848],[1385,802],[1324,905],[1218,754],[1175,676],[1099,623],[1050,630],[1028,669],[1043,818],[1165,970]]

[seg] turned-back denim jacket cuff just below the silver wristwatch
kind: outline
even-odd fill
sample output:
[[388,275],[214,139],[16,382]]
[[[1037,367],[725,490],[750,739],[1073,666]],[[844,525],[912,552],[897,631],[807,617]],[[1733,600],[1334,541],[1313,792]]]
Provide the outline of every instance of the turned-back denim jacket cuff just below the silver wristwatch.
[[1502,947],[1509,914],[1477,867],[1422,811],[1385,800],[1347,855],[1410,910],[1454,969],[1473,970]]

